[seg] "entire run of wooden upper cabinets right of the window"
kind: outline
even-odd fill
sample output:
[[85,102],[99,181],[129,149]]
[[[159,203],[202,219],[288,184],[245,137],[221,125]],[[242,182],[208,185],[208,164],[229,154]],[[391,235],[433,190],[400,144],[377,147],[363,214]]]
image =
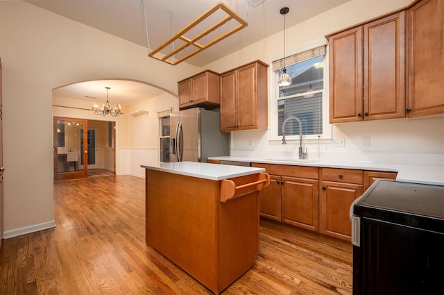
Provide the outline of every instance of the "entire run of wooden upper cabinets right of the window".
[[327,35],[330,123],[443,114],[443,19],[444,1],[417,0]]

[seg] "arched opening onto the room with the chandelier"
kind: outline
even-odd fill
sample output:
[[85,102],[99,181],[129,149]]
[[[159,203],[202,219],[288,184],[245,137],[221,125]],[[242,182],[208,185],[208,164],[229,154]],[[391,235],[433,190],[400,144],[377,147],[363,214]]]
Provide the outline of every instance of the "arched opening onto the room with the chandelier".
[[[118,117],[98,116],[92,111],[92,102],[99,106],[105,103],[107,99],[105,87],[110,87],[108,98],[111,107],[121,104],[123,115]],[[153,100],[157,102],[151,103],[149,106],[144,105],[144,101]],[[177,95],[142,81],[103,79],[57,87],[53,90],[54,179],[56,180],[56,176],[60,176],[62,179],[88,177],[87,171],[91,172],[93,169],[91,169],[91,165],[85,167],[83,163],[88,161],[88,164],[90,164],[89,161],[94,158],[98,160],[94,169],[111,169],[113,174],[117,175],[133,174],[133,171],[128,170],[135,169],[133,167],[137,167],[137,163],[134,165],[131,162],[135,158],[141,160],[144,158],[143,155],[140,156],[140,150],[150,149],[153,151],[153,149],[159,149],[157,126],[153,126],[153,117],[156,116],[159,108],[164,108],[164,106],[178,109]],[[131,115],[137,113],[138,108],[150,109],[141,112],[146,115],[138,115],[137,117]],[[146,126],[148,116],[149,128]],[[62,118],[60,121],[64,124],[67,124],[70,120],[73,122],[85,120],[83,121],[83,127],[87,126],[86,128],[76,127],[79,130],[71,132],[76,134],[76,137],[72,140],[74,144],[71,144],[71,146],[60,148],[56,145],[58,144],[56,139],[59,137],[56,133],[56,124],[59,124],[58,118]],[[157,117],[155,119],[157,120]],[[92,127],[96,127],[96,130]],[[85,133],[80,133],[80,130],[85,130]],[[110,137],[111,133],[114,136]],[[95,136],[92,136],[93,134]],[[97,134],[99,134],[102,141],[99,146],[92,144],[92,139],[96,138]],[[142,143],[137,142],[140,141],[140,137],[145,136],[151,137],[151,140],[145,140]],[[89,146],[89,149],[80,149],[83,142],[80,137],[87,139],[83,146]],[[155,140],[153,140],[153,137],[156,137]],[[67,133],[65,133],[65,138],[68,138]],[[156,142],[155,145],[153,141]],[[87,152],[85,153],[85,151]],[[60,152],[66,155],[61,155]],[[98,154],[94,155],[94,152]],[[139,153],[136,155],[137,152]],[[74,153],[74,155],[71,154],[71,157],[74,158],[78,155],[78,159],[74,159],[78,161],[67,161],[66,158],[69,153]],[[158,152],[153,154],[157,155]]]

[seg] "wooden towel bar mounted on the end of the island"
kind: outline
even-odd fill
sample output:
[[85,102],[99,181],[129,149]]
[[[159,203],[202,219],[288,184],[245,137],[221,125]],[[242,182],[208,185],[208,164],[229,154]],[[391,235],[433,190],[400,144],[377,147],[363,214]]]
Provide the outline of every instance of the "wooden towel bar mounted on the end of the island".
[[[270,176],[266,173],[255,174],[257,180],[250,183],[242,183],[237,185],[239,180],[243,178],[224,179],[221,181],[221,202],[225,203],[229,199],[244,196],[255,191],[259,191],[270,185]],[[244,180],[245,181],[245,180]]]

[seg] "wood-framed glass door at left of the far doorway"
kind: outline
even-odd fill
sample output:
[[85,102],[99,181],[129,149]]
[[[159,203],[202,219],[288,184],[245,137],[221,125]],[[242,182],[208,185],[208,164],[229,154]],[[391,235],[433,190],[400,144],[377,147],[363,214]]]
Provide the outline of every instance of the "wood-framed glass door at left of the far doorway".
[[53,118],[54,180],[87,178],[87,120]]

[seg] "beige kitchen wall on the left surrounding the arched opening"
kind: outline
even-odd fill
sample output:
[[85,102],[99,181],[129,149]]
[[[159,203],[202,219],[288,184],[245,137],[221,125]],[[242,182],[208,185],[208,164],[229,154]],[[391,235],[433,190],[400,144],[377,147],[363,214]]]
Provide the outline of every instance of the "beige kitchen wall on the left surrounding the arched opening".
[[0,1],[5,237],[53,226],[53,88],[127,78],[177,93],[177,81],[198,71],[153,60],[147,51],[32,4]]

